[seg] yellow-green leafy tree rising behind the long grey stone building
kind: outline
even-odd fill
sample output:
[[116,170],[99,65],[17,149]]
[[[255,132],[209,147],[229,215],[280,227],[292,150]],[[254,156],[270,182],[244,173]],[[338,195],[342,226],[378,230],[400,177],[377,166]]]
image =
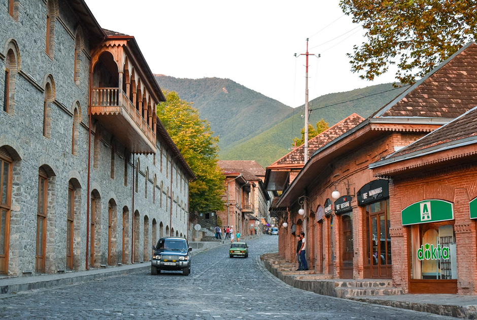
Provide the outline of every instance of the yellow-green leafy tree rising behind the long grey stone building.
[[175,91],[164,94],[166,102],[157,106],[157,116],[197,177],[189,183],[189,212],[223,210],[225,177],[217,165],[218,137],[192,103],[181,100]]

